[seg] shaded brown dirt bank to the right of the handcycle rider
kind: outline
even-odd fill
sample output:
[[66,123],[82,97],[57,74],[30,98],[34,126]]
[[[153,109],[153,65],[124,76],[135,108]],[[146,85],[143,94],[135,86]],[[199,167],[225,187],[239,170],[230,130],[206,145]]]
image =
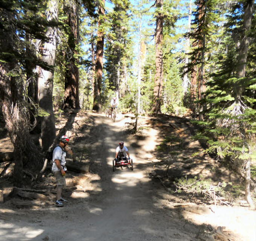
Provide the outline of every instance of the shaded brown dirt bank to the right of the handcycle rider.
[[197,127],[189,119],[160,115],[160,118],[151,118],[148,124],[158,130],[161,141],[154,151],[154,155],[160,160],[154,163],[156,172],[166,177],[168,182],[183,176],[199,176],[206,171],[207,178],[215,182],[230,178],[230,172],[220,173],[218,164],[208,154],[194,155],[202,152],[205,146],[193,138]]

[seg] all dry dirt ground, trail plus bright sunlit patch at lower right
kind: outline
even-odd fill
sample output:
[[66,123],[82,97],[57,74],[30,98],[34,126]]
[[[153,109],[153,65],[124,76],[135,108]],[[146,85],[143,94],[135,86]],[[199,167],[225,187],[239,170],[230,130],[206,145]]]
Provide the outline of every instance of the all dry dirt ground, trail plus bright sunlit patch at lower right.
[[[125,131],[125,123],[132,121],[129,117],[118,115],[113,123],[103,115],[90,115],[93,127],[89,133],[84,130],[84,136],[90,139],[81,136],[80,142],[75,143],[77,148],[90,144],[84,154],[91,160],[91,171],[84,175],[88,177],[87,186],[65,192],[69,203],[63,208],[45,205],[18,209],[9,202],[0,204],[0,241],[256,240],[255,210],[184,205],[184,200],[166,191],[160,180],[150,178],[149,173],[160,161],[155,148],[160,144],[161,133],[157,127],[149,126],[146,118],[140,123],[145,127],[143,138],[135,140]],[[120,140],[131,153],[133,171],[112,171]],[[67,177],[71,179],[72,175]],[[180,206],[182,203],[184,206]],[[210,239],[212,236],[206,233],[208,224],[225,227],[222,233],[229,238]]]

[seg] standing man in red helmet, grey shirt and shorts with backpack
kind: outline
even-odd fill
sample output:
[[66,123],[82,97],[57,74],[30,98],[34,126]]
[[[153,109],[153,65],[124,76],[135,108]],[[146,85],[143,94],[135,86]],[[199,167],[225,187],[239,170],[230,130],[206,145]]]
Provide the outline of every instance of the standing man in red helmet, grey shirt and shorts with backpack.
[[67,146],[69,138],[67,136],[61,136],[59,139],[59,145],[56,146],[52,154],[52,172],[57,181],[57,194],[55,205],[57,207],[63,207],[63,203],[67,203],[66,199],[61,197],[62,189],[66,186],[66,152],[64,148]]

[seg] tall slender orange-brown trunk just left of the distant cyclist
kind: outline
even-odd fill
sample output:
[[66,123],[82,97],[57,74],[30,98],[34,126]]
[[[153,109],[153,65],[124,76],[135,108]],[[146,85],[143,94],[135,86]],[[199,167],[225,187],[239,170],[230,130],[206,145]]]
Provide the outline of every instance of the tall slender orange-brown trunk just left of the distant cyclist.
[[99,20],[97,31],[97,48],[95,61],[95,84],[94,84],[94,98],[93,110],[101,111],[101,86],[102,86],[102,71],[103,71],[103,50],[104,50],[104,29],[103,23],[105,21],[105,0],[99,3]]

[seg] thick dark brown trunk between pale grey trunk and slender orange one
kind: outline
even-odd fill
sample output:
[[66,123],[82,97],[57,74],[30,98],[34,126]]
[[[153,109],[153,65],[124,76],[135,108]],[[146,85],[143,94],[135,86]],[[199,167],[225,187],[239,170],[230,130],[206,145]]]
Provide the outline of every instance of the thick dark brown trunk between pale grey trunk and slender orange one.
[[67,25],[70,33],[68,37],[68,49],[66,51],[66,73],[64,108],[80,109],[79,104],[79,68],[78,68],[78,44],[79,44],[79,8],[76,1],[68,0],[64,7],[67,15]]

